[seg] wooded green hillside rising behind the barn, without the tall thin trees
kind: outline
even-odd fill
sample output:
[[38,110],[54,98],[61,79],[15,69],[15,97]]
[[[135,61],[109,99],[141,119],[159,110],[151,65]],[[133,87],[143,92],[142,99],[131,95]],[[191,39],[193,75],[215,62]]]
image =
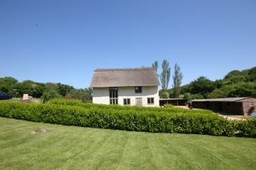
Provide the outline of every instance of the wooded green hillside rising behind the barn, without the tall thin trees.
[[[171,92],[171,90],[169,90]],[[211,81],[207,77],[181,87],[181,97],[188,98],[226,98],[256,97],[256,67],[242,71],[233,70],[221,80]]]

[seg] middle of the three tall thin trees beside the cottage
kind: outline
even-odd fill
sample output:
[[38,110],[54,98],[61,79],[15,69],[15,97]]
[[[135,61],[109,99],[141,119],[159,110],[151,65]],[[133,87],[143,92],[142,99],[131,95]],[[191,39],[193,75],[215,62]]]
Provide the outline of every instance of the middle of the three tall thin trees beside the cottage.
[[160,81],[163,90],[167,90],[170,82],[170,65],[167,60],[162,61],[162,72],[160,74]]

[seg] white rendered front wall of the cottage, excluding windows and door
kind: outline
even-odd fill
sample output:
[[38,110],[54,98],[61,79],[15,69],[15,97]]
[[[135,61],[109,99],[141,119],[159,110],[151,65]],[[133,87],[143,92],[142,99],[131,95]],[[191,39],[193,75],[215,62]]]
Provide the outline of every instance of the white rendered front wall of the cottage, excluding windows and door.
[[[158,86],[143,86],[142,93],[135,93],[135,87],[118,88],[118,104],[124,105],[124,98],[130,98],[131,106],[135,105],[135,98],[142,98],[144,107],[159,107]],[[148,98],[154,98],[154,104],[148,104]],[[109,88],[94,88],[94,104],[110,104]]]

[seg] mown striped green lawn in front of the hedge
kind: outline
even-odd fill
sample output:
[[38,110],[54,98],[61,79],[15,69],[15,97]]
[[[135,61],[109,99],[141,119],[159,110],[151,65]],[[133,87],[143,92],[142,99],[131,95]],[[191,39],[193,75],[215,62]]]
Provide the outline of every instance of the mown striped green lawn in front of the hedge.
[[[36,128],[46,133],[31,134]],[[0,117],[1,169],[255,169],[256,139],[151,134]]]

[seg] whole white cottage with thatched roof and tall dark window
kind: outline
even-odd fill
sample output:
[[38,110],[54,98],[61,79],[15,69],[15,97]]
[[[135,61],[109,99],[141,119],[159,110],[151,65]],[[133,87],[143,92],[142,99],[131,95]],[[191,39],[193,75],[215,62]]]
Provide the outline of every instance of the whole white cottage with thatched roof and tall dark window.
[[159,80],[153,68],[96,69],[91,80],[94,104],[159,107]]

